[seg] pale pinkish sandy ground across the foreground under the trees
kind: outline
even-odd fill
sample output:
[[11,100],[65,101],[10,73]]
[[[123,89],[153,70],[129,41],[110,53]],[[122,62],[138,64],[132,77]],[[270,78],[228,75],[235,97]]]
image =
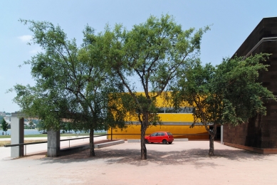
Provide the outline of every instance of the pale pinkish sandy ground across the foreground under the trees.
[[[277,184],[277,155],[262,155],[208,141],[117,144],[63,157],[35,154],[0,161],[0,184]],[[4,177],[4,178],[3,178]]]

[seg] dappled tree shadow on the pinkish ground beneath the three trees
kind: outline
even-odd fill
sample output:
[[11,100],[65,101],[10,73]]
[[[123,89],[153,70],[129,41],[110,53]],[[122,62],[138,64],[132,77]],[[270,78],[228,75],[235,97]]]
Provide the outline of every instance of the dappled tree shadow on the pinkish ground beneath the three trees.
[[45,164],[89,162],[102,160],[105,164],[130,164],[134,166],[147,166],[155,163],[159,166],[166,165],[194,165],[196,168],[203,166],[219,166],[216,159],[246,161],[267,160],[267,155],[256,154],[241,149],[216,149],[214,157],[209,157],[207,149],[187,149],[183,151],[160,152],[147,150],[147,160],[140,159],[140,149],[96,149],[96,157],[89,157],[89,149],[63,157],[45,157],[41,160]]

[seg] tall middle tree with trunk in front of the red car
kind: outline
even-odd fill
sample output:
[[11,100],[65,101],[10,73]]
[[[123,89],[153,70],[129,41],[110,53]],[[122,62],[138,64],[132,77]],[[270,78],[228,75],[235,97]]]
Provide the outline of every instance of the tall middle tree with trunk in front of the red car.
[[[120,78],[128,94],[128,109],[137,112],[141,125],[141,159],[147,159],[145,131],[159,123],[155,99],[162,95],[180,68],[198,54],[207,28],[182,30],[169,15],[150,16],[126,31],[121,25],[104,35],[105,57],[110,73]],[[130,78],[136,78],[135,83]],[[143,91],[142,94],[137,91]],[[126,102],[126,101],[125,101]]]

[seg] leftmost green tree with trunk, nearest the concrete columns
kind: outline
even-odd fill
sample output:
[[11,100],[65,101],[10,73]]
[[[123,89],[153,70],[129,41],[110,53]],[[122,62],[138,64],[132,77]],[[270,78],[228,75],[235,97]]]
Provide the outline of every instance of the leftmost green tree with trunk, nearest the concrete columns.
[[[83,44],[78,47],[75,39],[68,40],[60,26],[21,21],[30,25],[32,41],[41,46],[43,52],[25,62],[31,65],[36,85],[15,85],[14,101],[26,115],[38,117],[43,129],[58,131],[63,122],[70,122],[70,129],[89,131],[90,156],[95,156],[94,130],[107,129],[110,124],[125,126],[124,121],[108,117],[113,109],[109,107],[113,98],[110,93],[117,92],[118,83],[117,78],[109,78],[105,73],[102,37],[85,26]],[[107,119],[110,122],[106,122]]]

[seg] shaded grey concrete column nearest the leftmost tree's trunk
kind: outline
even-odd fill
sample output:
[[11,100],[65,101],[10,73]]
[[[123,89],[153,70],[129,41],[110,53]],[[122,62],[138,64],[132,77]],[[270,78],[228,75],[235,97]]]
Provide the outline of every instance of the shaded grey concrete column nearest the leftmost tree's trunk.
[[60,152],[60,131],[47,131],[47,156],[57,157]]

